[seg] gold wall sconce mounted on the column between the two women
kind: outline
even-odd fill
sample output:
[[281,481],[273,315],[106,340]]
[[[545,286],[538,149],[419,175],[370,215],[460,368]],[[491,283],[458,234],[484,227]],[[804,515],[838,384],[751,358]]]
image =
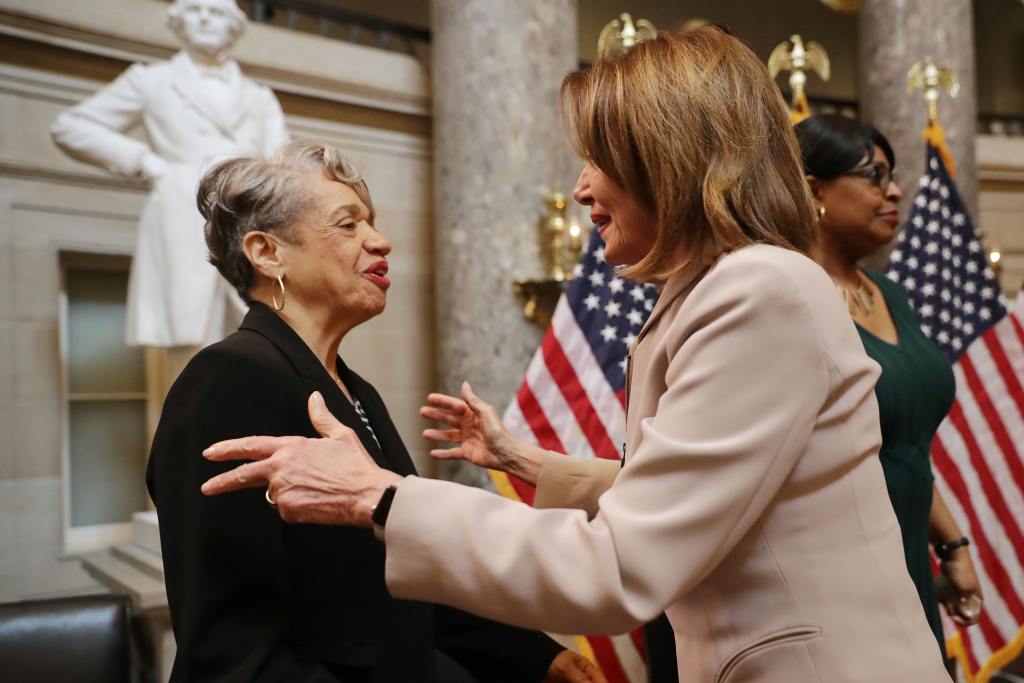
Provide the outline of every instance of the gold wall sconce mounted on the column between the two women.
[[544,208],[537,230],[544,275],[517,280],[512,283],[512,290],[523,299],[522,314],[547,330],[565,283],[572,279],[572,271],[580,262],[584,230],[580,222],[570,217],[565,196],[561,193],[545,197]]

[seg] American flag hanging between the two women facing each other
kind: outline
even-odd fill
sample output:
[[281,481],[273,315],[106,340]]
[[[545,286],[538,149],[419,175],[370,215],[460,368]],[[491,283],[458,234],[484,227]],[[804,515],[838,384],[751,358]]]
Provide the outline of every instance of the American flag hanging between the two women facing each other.
[[[526,370],[505,424],[519,438],[577,458],[622,456],[626,437],[626,356],[646,322],[657,290],[615,275],[593,230],[551,328]],[[534,488],[492,472],[498,490],[527,504]],[[583,652],[610,683],[646,680],[641,631],[585,636]]]

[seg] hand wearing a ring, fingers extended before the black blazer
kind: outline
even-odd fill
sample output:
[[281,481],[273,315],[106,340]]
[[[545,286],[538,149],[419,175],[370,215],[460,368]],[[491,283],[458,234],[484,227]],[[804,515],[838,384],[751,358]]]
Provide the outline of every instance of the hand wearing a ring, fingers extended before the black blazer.
[[217,496],[266,486],[287,522],[372,526],[370,515],[384,489],[401,476],[370,458],[359,437],[327,410],[319,392],[309,396],[309,420],[324,438],[247,436],[214,443],[209,460],[252,460],[203,484]]

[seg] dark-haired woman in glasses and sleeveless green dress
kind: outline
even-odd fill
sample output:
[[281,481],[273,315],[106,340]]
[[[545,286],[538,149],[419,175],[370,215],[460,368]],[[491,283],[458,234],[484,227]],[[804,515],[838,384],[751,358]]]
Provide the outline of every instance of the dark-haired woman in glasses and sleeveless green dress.
[[820,223],[811,256],[831,275],[867,355],[882,366],[874,390],[882,418],[879,457],[907,569],[945,657],[929,543],[940,560],[940,581],[948,586],[941,599],[950,617],[974,624],[981,599],[969,541],[935,487],[929,457],[935,431],[952,407],[955,381],[899,285],[857,265],[896,236],[901,193],[893,180],[895,158],[882,133],[847,117],[813,116],[796,130]]

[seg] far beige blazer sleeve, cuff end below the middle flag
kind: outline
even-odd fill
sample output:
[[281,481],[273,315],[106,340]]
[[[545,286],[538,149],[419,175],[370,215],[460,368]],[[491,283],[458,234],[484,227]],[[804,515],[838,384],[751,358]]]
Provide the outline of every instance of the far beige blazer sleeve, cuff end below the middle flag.
[[595,458],[581,460],[557,453],[547,453],[537,477],[535,508],[575,508],[597,514],[597,499],[611,487],[622,463]]

